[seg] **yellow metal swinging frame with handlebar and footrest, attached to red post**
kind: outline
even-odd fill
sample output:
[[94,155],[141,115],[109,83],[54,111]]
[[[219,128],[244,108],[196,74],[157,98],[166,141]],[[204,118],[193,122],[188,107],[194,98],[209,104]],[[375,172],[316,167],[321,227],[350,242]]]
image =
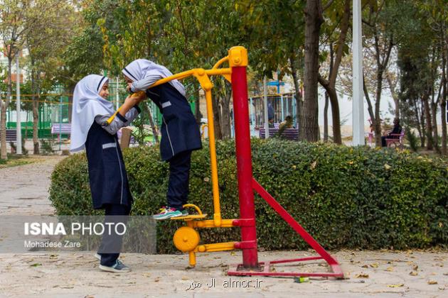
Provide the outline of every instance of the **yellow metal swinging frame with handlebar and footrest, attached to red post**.
[[[228,62],[228,68],[218,68],[224,62]],[[203,252],[213,252],[221,250],[233,250],[235,249],[235,242],[225,242],[225,243],[212,243],[212,244],[201,244],[196,245],[192,249],[191,243],[195,245],[199,242],[198,234],[193,232],[191,229],[196,228],[231,228],[233,227],[234,219],[222,219],[220,210],[220,199],[219,199],[219,189],[218,189],[218,163],[216,160],[216,148],[215,148],[215,129],[213,120],[213,106],[211,89],[213,84],[210,81],[209,76],[212,75],[222,75],[228,82],[231,82],[232,68],[235,66],[247,66],[247,50],[243,47],[237,46],[230,48],[228,51],[228,56],[223,57],[215,65],[213,65],[211,70],[204,70],[203,68],[195,68],[193,70],[187,70],[186,72],[180,72],[176,75],[160,79],[151,85],[151,87],[156,87],[166,82],[170,82],[173,79],[185,79],[186,77],[196,77],[199,84],[206,92],[206,106],[207,106],[207,119],[208,119],[208,140],[210,144],[210,169],[211,169],[211,182],[213,191],[213,220],[198,220],[204,219],[206,214],[203,214],[198,206],[193,204],[184,205],[185,208],[194,208],[198,214],[193,214],[189,216],[182,216],[178,218],[172,218],[173,220],[183,220],[186,222],[187,226],[183,226],[178,229],[175,233],[174,244],[176,248],[181,251],[188,252],[189,263],[193,267],[196,265],[196,253]],[[110,123],[114,117],[119,112],[119,109],[112,115],[107,122]]]

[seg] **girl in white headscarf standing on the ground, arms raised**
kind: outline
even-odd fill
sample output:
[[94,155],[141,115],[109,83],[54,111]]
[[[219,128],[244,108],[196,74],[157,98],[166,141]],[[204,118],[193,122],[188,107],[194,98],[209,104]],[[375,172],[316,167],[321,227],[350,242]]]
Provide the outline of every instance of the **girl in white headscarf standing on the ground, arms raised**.
[[[90,192],[94,209],[105,209],[106,216],[127,216],[131,211],[132,195],[117,131],[136,118],[142,97],[128,96],[114,120],[113,105],[107,101],[109,79],[87,75],[76,84],[73,94],[70,151],[85,149],[88,162]],[[108,218],[108,217],[107,217]],[[108,272],[129,272],[129,267],[118,260],[122,238],[104,235],[97,258],[100,269]]]

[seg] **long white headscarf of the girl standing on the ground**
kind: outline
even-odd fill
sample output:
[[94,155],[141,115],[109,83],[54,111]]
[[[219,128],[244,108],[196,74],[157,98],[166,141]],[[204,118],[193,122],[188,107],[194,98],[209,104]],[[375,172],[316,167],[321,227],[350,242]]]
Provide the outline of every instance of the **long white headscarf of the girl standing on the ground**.
[[87,133],[96,116],[114,114],[112,102],[100,96],[100,90],[108,80],[108,77],[100,75],[87,75],[76,84],[73,93],[70,152],[84,149]]

